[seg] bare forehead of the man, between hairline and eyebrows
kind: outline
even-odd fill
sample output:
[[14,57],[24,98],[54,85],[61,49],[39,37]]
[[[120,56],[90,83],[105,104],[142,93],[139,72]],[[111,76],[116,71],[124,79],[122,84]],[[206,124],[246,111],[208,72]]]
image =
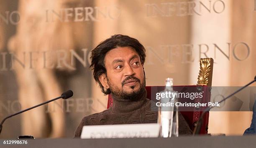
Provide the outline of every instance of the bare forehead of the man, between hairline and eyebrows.
[[131,47],[118,47],[108,51],[105,56],[105,62],[112,62],[113,60],[129,60],[134,55],[137,55],[139,58],[135,49]]

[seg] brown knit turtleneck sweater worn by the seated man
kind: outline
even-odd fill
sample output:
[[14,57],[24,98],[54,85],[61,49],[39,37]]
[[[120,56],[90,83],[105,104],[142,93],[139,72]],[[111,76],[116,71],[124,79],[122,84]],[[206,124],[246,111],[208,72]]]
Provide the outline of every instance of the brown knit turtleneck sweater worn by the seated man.
[[[84,125],[108,124],[136,124],[157,123],[156,108],[151,106],[151,100],[146,98],[146,93],[138,100],[117,99],[113,97],[113,106],[100,113],[84,117],[75,131],[75,137],[80,137]],[[191,135],[186,120],[179,113],[179,135]]]

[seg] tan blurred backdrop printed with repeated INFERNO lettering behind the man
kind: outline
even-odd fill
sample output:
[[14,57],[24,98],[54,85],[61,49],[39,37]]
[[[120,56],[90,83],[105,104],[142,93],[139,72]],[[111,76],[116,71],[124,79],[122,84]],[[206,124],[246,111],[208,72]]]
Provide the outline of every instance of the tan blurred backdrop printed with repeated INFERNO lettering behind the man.
[[[145,46],[147,85],[195,85],[206,57],[213,86],[245,85],[256,74],[255,21],[256,0],[0,0],[0,119],[74,91],[6,120],[0,138],[73,137],[82,117],[105,110],[90,50],[114,34]],[[212,111],[209,133],[241,135],[250,122],[251,112]]]

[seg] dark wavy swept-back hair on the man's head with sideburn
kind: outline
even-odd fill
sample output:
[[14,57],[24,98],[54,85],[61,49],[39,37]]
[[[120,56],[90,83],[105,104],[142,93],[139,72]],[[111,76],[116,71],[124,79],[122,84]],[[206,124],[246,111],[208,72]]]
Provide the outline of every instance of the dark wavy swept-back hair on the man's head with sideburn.
[[90,68],[93,70],[93,77],[97,83],[99,83],[101,91],[108,95],[110,94],[110,89],[107,91],[104,90],[104,87],[100,83],[99,77],[100,75],[107,74],[107,70],[105,68],[105,55],[108,51],[118,48],[118,47],[131,47],[136,50],[141,59],[141,64],[144,64],[146,58],[146,50],[144,46],[135,38],[131,38],[127,35],[113,35],[110,38],[104,40],[96,48],[92,50],[92,56],[90,57],[92,63]]

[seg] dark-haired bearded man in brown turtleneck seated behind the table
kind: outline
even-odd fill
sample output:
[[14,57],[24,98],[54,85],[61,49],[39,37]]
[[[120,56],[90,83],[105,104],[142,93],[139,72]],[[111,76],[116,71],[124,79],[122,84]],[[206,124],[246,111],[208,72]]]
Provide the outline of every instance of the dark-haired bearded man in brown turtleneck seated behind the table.
[[[80,137],[84,125],[157,123],[157,112],[146,98],[145,51],[138,40],[126,35],[113,35],[92,50],[93,76],[105,95],[111,93],[113,106],[84,117],[75,137]],[[180,113],[179,117],[179,134],[190,135]]]

